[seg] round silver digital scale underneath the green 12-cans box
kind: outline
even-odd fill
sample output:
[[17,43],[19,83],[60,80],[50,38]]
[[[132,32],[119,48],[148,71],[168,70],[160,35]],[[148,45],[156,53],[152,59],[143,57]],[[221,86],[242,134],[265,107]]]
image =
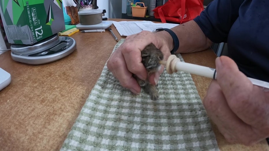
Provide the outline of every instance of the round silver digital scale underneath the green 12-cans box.
[[33,45],[12,44],[10,49],[14,61],[40,65],[68,56],[76,49],[76,41],[54,34]]

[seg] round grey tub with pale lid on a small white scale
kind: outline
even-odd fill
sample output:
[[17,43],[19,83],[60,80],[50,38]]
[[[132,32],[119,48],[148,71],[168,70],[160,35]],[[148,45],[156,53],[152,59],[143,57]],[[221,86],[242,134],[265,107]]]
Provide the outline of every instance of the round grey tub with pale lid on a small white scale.
[[94,25],[102,22],[103,10],[82,10],[79,11],[79,22],[81,25]]

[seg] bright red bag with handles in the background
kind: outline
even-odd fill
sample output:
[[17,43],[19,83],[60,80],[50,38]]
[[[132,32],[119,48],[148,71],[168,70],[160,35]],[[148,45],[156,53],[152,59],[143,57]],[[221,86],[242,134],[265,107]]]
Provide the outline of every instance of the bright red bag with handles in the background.
[[168,20],[182,24],[199,16],[203,10],[203,0],[169,0],[152,11],[154,17],[161,19],[162,22]]

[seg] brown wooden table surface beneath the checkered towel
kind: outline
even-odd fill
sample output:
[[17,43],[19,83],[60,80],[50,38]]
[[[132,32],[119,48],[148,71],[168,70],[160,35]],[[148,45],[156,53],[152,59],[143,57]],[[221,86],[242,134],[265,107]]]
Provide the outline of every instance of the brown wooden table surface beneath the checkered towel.
[[[110,19],[123,21],[123,19]],[[124,19],[126,20],[126,19]],[[118,39],[121,37],[111,26]],[[0,91],[0,150],[59,150],[117,41],[105,33],[75,33],[77,49],[44,65],[13,61],[10,51],[0,55],[0,67],[11,74]],[[212,50],[182,54],[184,61],[215,67]],[[192,75],[201,99],[209,78]],[[229,144],[213,124],[221,150],[269,150],[264,140],[253,146]]]

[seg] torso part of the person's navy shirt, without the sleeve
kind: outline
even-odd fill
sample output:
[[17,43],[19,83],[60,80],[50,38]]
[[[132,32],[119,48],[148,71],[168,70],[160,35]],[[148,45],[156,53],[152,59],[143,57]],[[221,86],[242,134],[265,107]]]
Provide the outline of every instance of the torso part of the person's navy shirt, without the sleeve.
[[269,82],[269,1],[242,3],[227,44],[229,56],[246,76]]

